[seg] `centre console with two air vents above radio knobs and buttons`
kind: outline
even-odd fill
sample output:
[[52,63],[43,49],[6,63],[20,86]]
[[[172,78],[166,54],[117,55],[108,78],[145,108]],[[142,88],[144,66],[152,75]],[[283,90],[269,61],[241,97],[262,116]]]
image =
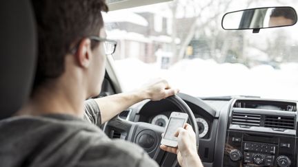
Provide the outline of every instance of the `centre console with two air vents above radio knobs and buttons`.
[[224,166],[296,167],[296,129],[295,102],[235,100],[226,133]]

